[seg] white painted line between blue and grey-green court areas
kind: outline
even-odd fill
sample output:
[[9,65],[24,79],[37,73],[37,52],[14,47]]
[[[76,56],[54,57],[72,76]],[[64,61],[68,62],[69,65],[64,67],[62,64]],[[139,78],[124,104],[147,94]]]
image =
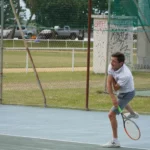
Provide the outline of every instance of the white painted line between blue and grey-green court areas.
[[[1,134],[0,135],[4,135],[4,136],[12,136],[12,137],[22,137],[22,138],[29,138],[29,139],[39,139],[39,140],[47,140],[47,141],[58,141],[58,142],[66,142],[66,143],[77,143],[77,144],[88,144],[88,145],[97,145],[97,146],[102,146],[100,144],[97,143],[84,143],[84,142],[78,142],[78,141],[67,141],[67,140],[60,140],[60,139],[47,139],[47,138],[39,138],[39,137],[29,137],[29,136],[20,136],[20,135],[11,135],[11,134]],[[137,148],[137,147],[124,147],[121,146],[123,148],[136,148],[138,150],[150,150],[147,148]]]

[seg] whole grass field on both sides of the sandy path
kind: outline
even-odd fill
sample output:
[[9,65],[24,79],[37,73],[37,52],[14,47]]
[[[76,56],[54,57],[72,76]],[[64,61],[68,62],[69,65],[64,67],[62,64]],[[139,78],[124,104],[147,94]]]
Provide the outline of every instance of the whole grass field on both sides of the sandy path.
[[[36,67],[71,67],[71,51],[32,51]],[[91,66],[92,66],[91,53]],[[4,51],[4,68],[25,68],[25,51]],[[86,67],[86,52],[75,52],[75,67]],[[29,67],[31,64],[29,63]],[[148,72],[133,72],[136,89],[150,90]],[[85,109],[86,72],[39,72],[48,107]],[[104,91],[104,74],[90,72],[89,109],[109,110],[112,106]],[[42,106],[43,97],[33,72],[4,73],[3,104]],[[150,113],[150,97],[135,97],[131,105],[142,113]]]

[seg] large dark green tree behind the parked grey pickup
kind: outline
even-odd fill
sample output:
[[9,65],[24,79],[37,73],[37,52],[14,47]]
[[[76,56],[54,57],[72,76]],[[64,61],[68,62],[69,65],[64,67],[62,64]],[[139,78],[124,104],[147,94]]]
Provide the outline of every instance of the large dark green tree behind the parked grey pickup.
[[[24,2],[31,11],[31,17],[35,14],[36,23],[39,25],[87,27],[88,0],[24,0]],[[93,8],[108,10],[107,0],[92,2]]]

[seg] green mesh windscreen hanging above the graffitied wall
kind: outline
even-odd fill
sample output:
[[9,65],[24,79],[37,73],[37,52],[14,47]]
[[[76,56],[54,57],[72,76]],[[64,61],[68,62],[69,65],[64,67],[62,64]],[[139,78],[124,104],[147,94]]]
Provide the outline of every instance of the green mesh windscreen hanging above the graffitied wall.
[[117,26],[150,26],[150,0],[111,0],[109,22]]

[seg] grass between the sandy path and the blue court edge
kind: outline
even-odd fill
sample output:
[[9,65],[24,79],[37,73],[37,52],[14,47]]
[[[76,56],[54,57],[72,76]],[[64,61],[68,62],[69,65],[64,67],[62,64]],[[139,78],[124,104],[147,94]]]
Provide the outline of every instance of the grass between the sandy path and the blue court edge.
[[[135,87],[144,83],[150,89],[149,73],[134,72]],[[48,107],[85,109],[86,72],[39,73]],[[3,88],[3,104],[44,106],[34,73],[7,73]],[[138,81],[138,82],[137,82]],[[109,110],[112,106],[108,94],[103,93],[104,75],[90,73],[89,109]],[[149,97],[135,97],[131,102],[138,112],[150,113]]]

